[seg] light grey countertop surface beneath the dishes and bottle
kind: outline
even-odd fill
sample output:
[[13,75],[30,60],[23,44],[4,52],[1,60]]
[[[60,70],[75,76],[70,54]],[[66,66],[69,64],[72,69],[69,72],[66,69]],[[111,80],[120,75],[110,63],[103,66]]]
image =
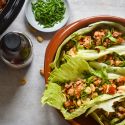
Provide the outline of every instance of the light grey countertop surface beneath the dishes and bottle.
[[[68,24],[95,15],[125,18],[125,0],[68,1],[70,5]],[[34,45],[34,59],[29,67],[21,70],[13,70],[0,61],[0,125],[68,125],[55,109],[41,106],[40,103],[45,82],[39,70],[44,66],[45,50],[54,33],[31,32],[24,10],[25,5],[6,32],[26,33]],[[42,43],[37,42],[37,35],[43,36]],[[20,83],[23,78],[27,81],[25,85]]]

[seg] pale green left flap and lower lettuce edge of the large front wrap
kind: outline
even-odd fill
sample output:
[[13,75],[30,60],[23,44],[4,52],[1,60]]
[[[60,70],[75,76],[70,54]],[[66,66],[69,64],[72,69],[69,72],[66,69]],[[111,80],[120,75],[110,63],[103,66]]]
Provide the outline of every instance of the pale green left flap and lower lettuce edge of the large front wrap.
[[81,114],[85,113],[87,109],[95,106],[98,103],[101,103],[103,101],[109,100],[111,98],[114,98],[119,95],[107,95],[103,94],[98,97],[96,97],[94,100],[88,101],[81,105],[78,109],[75,109],[74,112],[69,113],[64,107],[63,103],[66,101],[65,97],[61,91],[61,86],[56,83],[49,83],[47,86],[47,89],[44,92],[44,95],[41,99],[42,104],[48,104],[50,106],[55,107],[56,109],[60,110],[62,112],[65,119],[70,120],[75,117],[80,116]]

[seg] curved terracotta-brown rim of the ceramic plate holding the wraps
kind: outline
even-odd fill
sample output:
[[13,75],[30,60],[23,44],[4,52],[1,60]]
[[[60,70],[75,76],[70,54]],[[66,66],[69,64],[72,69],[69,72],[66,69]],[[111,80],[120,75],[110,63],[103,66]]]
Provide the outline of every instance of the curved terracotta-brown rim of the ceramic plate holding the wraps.
[[[112,21],[117,22],[125,26],[125,19],[120,17],[114,17],[114,16],[97,16],[97,17],[91,17],[82,19],[79,21],[76,21],[61,30],[59,30],[53,39],[50,41],[45,54],[45,62],[44,62],[44,76],[45,76],[45,82],[47,83],[47,79],[49,77],[50,72],[50,66],[49,64],[53,61],[56,51],[59,47],[59,45],[66,39],[70,34],[73,32],[87,27],[91,23],[95,23],[98,21]],[[97,125],[96,121],[94,121],[92,118],[84,118],[84,116],[80,116],[72,121],[70,121],[71,125]]]

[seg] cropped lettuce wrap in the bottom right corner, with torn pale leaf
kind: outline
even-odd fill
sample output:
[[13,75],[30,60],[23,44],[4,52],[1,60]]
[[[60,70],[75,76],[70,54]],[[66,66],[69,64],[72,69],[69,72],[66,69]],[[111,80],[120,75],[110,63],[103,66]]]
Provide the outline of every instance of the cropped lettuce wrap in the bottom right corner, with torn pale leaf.
[[91,112],[100,125],[125,125],[125,96],[95,105],[88,114]]

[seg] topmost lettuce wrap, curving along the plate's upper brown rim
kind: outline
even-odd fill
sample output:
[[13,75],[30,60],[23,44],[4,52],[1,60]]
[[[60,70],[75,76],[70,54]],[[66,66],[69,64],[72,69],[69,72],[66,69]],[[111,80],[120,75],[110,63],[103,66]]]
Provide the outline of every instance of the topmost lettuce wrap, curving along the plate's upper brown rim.
[[80,29],[59,46],[52,68],[65,62],[65,55],[81,56],[85,60],[96,60],[106,54],[125,54],[125,27],[109,21],[93,23]]

